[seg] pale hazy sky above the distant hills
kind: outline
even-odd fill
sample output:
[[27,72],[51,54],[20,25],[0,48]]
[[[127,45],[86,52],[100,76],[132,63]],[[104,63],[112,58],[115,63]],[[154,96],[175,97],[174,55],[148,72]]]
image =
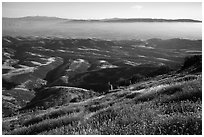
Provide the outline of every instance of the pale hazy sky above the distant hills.
[[3,17],[55,16],[70,19],[166,18],[202,20],[201,2],[4,2]]

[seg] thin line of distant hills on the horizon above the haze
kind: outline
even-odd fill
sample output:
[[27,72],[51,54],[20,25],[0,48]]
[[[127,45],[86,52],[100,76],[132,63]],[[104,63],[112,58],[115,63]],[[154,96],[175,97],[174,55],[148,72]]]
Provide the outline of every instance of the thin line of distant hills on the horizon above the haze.
[[202,22],[193,19],[153,19],[153,18],[110,18],[110,19],[65,19],[47,16],[27,16],[21,18],[7,18],[11,20],[30,20],[30,21],[65,21],[65,22]]

